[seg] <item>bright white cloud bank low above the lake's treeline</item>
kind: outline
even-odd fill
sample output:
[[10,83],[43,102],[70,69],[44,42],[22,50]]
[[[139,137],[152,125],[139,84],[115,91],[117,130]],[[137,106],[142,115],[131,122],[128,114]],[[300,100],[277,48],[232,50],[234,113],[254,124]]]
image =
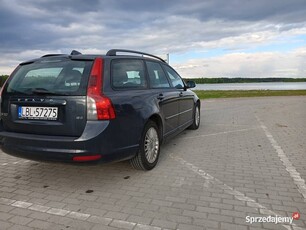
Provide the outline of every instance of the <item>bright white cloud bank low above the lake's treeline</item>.
[[173,66],[190,77],[304,77],[306,48],[292,52],[231,53]]

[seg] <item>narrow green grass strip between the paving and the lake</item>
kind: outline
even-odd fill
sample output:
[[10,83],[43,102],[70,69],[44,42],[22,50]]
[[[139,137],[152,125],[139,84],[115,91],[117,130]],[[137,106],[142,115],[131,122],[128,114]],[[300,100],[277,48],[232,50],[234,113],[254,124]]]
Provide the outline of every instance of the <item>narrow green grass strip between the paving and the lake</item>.
[[306,90],[194,90],[200,99],[233,97],[306,96]]

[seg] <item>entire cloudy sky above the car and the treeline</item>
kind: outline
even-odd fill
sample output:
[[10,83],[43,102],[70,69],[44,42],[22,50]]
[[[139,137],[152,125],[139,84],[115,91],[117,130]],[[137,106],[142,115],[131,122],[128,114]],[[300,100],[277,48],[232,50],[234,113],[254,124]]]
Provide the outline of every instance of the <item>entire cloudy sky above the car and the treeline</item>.
[[306,1],[0,0],[0,75],[112,48],[169,54],[184,78],[306,78]]

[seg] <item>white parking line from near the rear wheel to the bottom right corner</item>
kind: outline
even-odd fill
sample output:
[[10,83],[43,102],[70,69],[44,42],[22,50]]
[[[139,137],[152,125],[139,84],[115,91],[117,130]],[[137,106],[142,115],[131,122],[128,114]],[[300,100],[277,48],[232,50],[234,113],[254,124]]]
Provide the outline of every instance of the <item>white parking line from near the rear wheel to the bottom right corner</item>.
[[[246,201],[248,207],[254,208],[256,211],[257,211],[257,208],[258,208],[259,212],[261,214],[281,216],[280,214],[277,214],[276,212],[269,210],[267,207],[257,203],[252,198],[247,197],[242,192],[239,192],[238,190],[235,190],[234,188],[228,186],[227,184],[223,183],[219,179],[217,179],[217,178],[213,177],[212,175],[206,173],[204,170],[202,170],[202,169],[198,168],[197,166],[185,161],[183,158],[174,156],[173,153],[170,154],[170,157],[172,159],[178,161],[180,164],[184,165],[187,169],[191,170],[192,172],[194,172],[197,175],[204,178],[206,184],[211,183],[211,184],[213,184],[215,186],[218,186],[219,188],[223,189],[225,193],[233,195],[237,200]],[[296,226],[296,224],[292,224],[292,225],[282,224],[282,226],[286,229],[289,229],[289,230],[290,229],[291,230],[292,229],[294,229],[294,230],[295,229],[302,229],[302,228]]]

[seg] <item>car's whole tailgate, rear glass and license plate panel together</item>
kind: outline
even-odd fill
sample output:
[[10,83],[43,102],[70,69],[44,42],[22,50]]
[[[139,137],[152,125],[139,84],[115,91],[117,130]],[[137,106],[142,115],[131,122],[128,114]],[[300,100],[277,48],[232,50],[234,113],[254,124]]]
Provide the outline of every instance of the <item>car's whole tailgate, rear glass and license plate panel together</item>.
[[92,61],[50,57],[17,68],[2,92],[5,131],[80,136]]

